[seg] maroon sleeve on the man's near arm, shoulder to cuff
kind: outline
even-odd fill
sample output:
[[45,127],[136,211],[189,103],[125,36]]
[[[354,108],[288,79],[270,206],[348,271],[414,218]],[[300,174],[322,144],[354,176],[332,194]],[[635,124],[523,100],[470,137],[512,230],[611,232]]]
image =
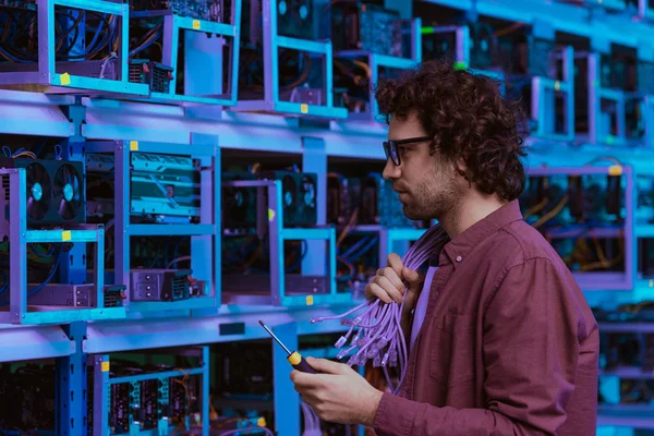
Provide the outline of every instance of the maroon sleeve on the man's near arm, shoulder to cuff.
[[546,258],[510,268],[484,316],[486,408],[437,408],[385,393],[377,435],[555,435],[566,422],[584,335],[571,281]]

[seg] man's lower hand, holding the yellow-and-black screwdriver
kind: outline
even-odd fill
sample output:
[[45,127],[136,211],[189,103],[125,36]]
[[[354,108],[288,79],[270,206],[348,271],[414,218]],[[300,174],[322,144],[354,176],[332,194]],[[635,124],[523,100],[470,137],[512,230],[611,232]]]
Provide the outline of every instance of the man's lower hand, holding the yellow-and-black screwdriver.
[[324,421],[372,426],[383,392],[343,363],[306,358],[319,374],[291,372],[302,400]]

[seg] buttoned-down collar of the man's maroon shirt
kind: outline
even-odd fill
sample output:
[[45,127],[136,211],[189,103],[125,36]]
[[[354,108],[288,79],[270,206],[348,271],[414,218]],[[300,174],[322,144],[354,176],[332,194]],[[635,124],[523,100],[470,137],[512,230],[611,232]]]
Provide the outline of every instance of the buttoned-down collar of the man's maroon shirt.
[[455,268],[457,264],[465,262],[465,258],[484,239],[495,233],[502,227],[513,221],[522,219],[520,205],[517,199],[507,203],[487,217],[475,222],[463,233],[449,241],[440,255],[440,263],[452,263]]

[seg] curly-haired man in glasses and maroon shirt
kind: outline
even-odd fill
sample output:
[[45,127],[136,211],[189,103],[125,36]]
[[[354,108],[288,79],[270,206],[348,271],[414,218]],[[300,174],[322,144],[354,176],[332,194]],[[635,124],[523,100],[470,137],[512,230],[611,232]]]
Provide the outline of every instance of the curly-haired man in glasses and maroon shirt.
[[366,288],[390,302],[409,284],[400,396],[315,359],[322,374],[294,371],[295,389],[324,420],[379,436],[594,435],[597,325],[560,257],[522,220],[516,111],[489,78],[445,62],[382,85],[377,100],[390,120],[385,178],[407,217],[436,218],[450,241],[422,292],[397,255]]

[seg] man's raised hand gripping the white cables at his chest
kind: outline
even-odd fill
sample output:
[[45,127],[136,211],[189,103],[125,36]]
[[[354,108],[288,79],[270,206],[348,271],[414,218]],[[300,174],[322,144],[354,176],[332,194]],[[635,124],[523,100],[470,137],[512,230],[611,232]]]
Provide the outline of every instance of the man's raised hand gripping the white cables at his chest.
[[[407,334],[409,314],[415,306],[417,294],[424,281],[424,275],[407,268],[402,264],[400,256],[396,253],[390,253],[387,262],[388,266],[377,269],[377,275],[365,287],[365,296],[367,299],[376,296],[385,303],[392,301],[401,303],[404,300],[404,306],[402,307],[402,329]],[[409,288],[407,296],[403,296],[407,288]]]

